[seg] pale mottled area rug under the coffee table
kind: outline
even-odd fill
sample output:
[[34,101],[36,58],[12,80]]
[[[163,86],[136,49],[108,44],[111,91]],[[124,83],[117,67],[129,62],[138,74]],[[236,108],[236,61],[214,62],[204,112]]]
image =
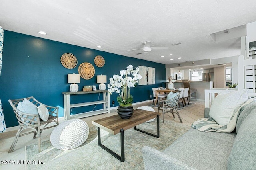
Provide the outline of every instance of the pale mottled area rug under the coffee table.
[[[136,126],[138,129],[156,134],[156,123],[142,123]],[[152,137],[133,128],[124,131],[125,161],[120,162],[104,149],[98,146],[96,127],[91,127],[86,142],[76,149],[58,150],[49,141],[42,142],[42,152],[38,153],[38,145],[25,147],[26,160],[34,160],[36,164],[27,164],[26,169],[90,169],[90,170],[143,170],[142,147],[150,146],[163,151],[178,137],[190,129],[181,123],[160,119],[160,138]],[[120,134],[111,135],[101,130],[102,144],[120,155]],[[44,162],[44,164],[38,163]]]

